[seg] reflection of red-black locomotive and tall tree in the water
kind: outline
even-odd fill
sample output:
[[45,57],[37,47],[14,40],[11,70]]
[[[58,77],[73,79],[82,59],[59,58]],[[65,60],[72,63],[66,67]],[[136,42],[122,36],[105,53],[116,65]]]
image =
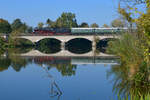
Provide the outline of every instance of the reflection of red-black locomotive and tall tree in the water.
[[75,75],[76,65],[71,64],[71,58],[34,57],[33,61],[36,64],[48,66],[48,70],[50,70],[50,68],[56,68],[62,76]]

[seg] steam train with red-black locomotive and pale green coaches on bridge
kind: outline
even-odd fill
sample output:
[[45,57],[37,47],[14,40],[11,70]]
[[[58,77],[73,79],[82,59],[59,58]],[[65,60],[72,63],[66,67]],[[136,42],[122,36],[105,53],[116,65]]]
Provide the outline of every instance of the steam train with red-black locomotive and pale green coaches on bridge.
[[35,28],[33,35],[104,35],[117,34],[128,28]]

